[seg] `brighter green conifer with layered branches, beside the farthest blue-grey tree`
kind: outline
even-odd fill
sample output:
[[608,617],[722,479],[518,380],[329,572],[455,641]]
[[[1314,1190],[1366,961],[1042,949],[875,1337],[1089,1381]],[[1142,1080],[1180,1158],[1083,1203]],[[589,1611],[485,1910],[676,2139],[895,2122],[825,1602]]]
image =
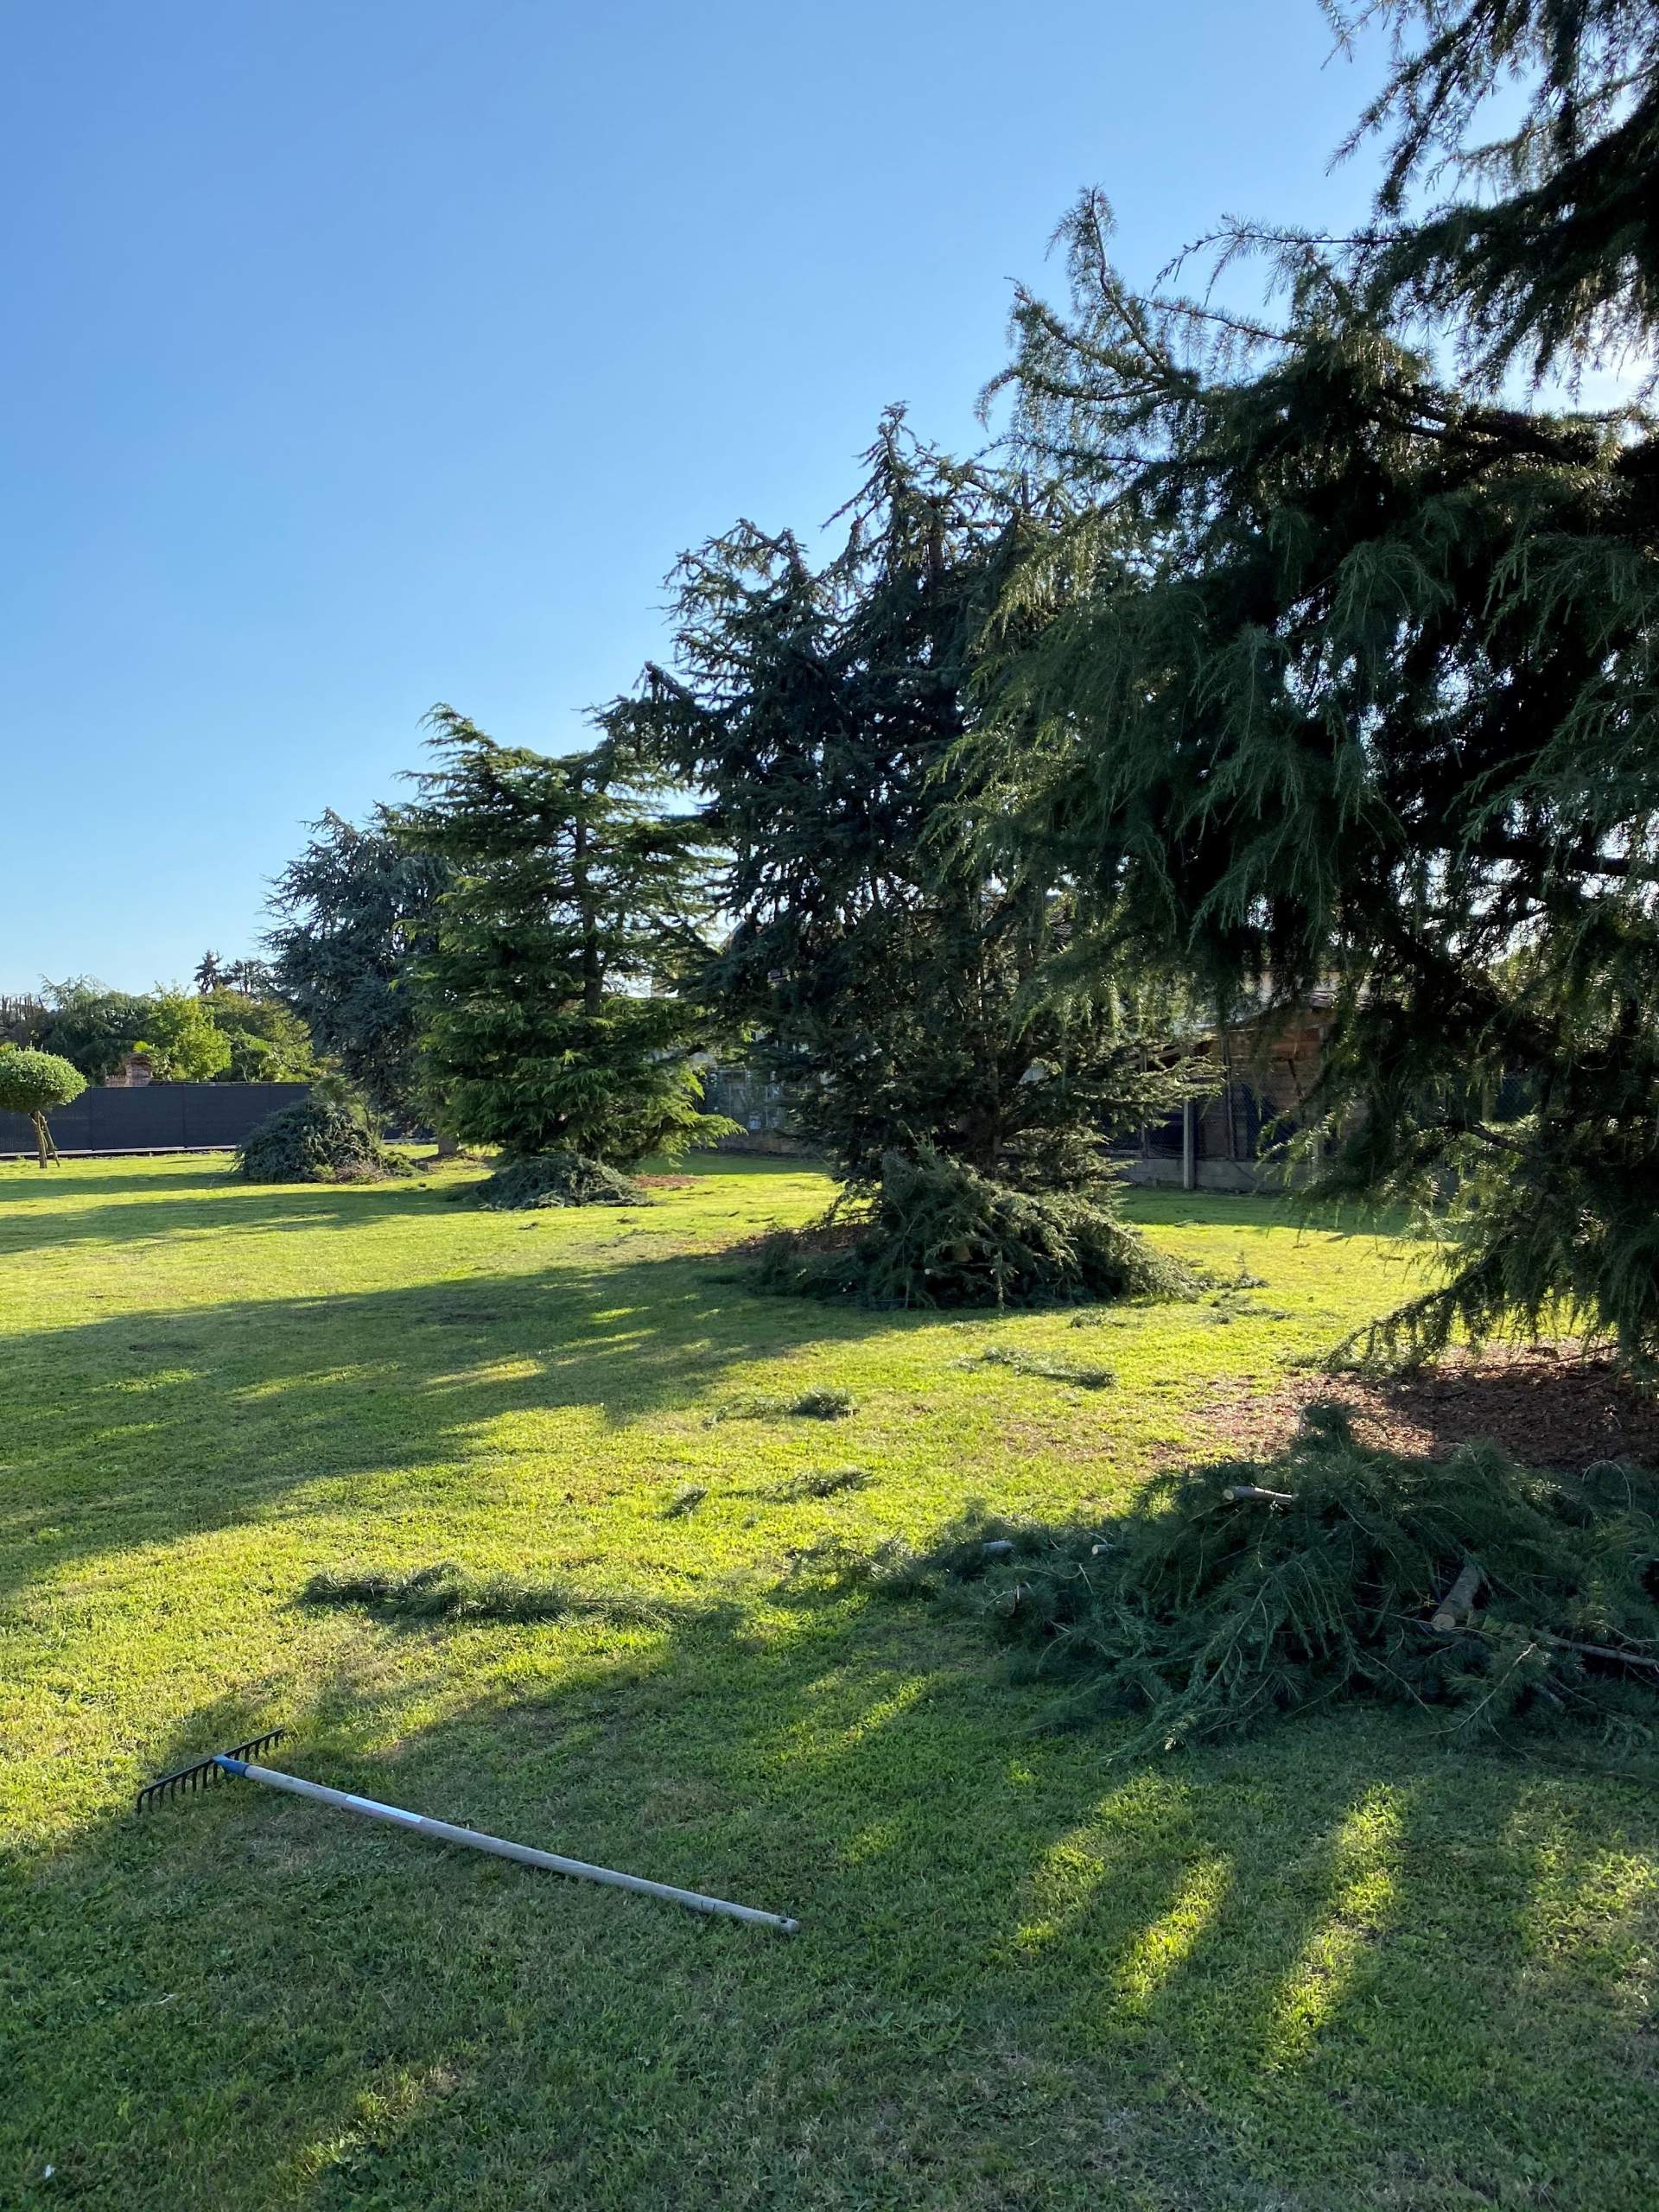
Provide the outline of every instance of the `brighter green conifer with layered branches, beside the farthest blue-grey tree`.
[[608,745],[546,759],[451,708],[431,719],[442,765],[400,834],[447,869],[418,971],[445,1124],[606,1168],[721,1137],[692,1066],[710,1022],[679,989],[708,958],[697,821],[630,785]]

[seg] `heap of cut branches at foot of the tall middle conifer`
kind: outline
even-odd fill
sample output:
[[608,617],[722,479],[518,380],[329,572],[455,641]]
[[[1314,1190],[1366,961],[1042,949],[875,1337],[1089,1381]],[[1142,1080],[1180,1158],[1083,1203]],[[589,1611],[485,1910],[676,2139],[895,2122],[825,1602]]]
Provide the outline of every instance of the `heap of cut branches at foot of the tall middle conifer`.
[[757,1285],[874,1307],[1055,1305],[1192,1296],[1194,1281],[1117,1219],[1108,1186],[1029,1192],[931,1146],[887,1152],[874,1197],[843,1197],[763,1239]]

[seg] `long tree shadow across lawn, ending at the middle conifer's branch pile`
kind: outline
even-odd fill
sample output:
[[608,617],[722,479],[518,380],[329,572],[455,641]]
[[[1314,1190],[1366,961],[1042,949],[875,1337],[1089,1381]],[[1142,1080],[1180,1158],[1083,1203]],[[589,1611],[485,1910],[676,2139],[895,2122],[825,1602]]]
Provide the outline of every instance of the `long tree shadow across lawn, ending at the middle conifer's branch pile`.
[[695,1411],[730,1367],[909,1325],[721,1272],[721,1254],[624,1256],[9,1336],[0,1588],[265,1517],[316,1482],[374,1475],[356,1504],[396,1504],[500,1416]]

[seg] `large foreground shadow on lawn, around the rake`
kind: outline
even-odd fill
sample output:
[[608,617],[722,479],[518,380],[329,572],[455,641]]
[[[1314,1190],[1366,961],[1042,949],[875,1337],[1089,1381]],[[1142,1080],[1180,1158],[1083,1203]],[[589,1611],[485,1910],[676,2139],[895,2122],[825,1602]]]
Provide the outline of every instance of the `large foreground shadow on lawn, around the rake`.
[[[566,1646],[557,1688],[489,1646],[522,1672],[414,1734],[387,1648],[405,1712],[453,1686],[445,1632],[365,1628],[285,1763],[803,1936],[252,1787],[113,1809],[13,1869],[13,2179],[422,2212],[1652,2201],[1650,1962],[1639,1900],[1608,1909],[1657,1840],[1637,1790],[1383,1717],[1119,1774],[1026,1736],[960,1624],[852,1599]],[[153,1761],[265,1719],[221,1701]]]

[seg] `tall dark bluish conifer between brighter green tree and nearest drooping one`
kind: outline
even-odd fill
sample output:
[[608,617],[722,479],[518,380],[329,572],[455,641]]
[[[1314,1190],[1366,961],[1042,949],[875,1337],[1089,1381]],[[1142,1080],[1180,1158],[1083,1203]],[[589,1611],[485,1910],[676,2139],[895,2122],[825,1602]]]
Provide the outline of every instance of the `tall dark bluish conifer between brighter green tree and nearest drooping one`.
[[[973,1179],[947,1203],[1011,1186],[1037,1212],[1044,1192],[1099,1188],[1108,1139],[1183,1093],[1121,993],[1057,975],[1064,887],[998,876],[958,830],[978,796],[956,750],[978,639],[1055,518],[920,447],[898,414],[865,460],[825,562],[750,522],[686,555],[675,661],[606,721],[706,794],[734,918],[710,991],[790,1086],[799,1133],[865,1197],[927,1148]],[[987,1254],[973,1296],[998,1267],[1013,1281],[1013,1245]],[[889,1272],[872,1294],[902,1296],[900,1274],[922,1294],[920,1250]],[[951,1287],[967,1274],[936,1272],[927,1296]]]

